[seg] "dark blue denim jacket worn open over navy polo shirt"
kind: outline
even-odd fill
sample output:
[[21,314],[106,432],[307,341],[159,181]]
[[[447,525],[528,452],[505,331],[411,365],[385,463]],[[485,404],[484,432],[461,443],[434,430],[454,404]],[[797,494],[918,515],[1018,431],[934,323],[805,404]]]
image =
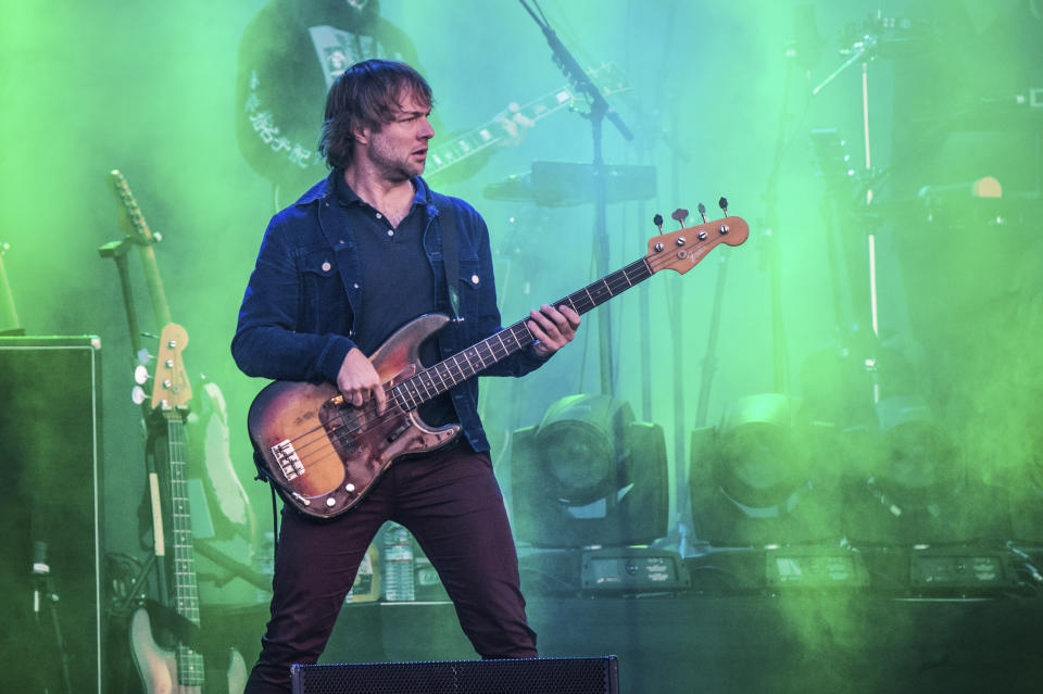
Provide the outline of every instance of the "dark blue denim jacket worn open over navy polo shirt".
[[[335,171],[330,176],[339,174]],[[431,191],[422,178],[414,181],[428,200],[424,250],[435,274],[438,307],[450,316],[439,206],[456,215],[460,312],[438,336],[439,353],[445,358],[502,329],[489,231],[466,202]],[[365,287],[360,286],[354,234],[331,184],[329,177],[319,181],[275,215],[264,234],[231,341],[236,364],[248,376],[336,383],[341,363],[355,346],[353,307]],[[523,376],[541,364],[543,359],[525,349],[482,374]],[[478,417],[478,379],[458,383],[450,394],[467,441],[475,451],[488,451]]]

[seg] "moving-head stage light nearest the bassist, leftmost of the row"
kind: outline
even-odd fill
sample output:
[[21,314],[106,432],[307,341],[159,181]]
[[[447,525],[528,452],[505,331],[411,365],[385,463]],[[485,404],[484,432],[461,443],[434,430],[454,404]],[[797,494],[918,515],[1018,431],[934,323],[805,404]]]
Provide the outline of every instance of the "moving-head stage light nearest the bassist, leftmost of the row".
[[667,532],[663,429],[610,395],[570,395],[514,432],[515,535],[538,547],[627,546]]

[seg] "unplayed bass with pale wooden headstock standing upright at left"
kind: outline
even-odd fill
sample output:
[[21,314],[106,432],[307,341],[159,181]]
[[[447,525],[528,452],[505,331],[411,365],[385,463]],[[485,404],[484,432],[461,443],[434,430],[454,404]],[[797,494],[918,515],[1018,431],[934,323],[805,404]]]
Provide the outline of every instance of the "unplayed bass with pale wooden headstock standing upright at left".
[[[175,323],[164,326],[156,353],[151,406],[154,416],[162,417],[166,427],[169,513],[165,516],[171,521],[169,537],[173,543],[173,608],[180,618],[198,629],[199,592],[185,454],[185,413],[192,398],[191,386],[181,362],[181,352],[187,344],[188,333],[185,328]],[[178,640],[173,649],[156,644],[149,613],[143,607],[137,609],[130,619],[130,649],[146,694],[196,694],[204,691],[205,670],[202,655],[183,640]],[[230,652],[226,677],[229,694],[240,694],[246,686],[247,666],[235,649]]]

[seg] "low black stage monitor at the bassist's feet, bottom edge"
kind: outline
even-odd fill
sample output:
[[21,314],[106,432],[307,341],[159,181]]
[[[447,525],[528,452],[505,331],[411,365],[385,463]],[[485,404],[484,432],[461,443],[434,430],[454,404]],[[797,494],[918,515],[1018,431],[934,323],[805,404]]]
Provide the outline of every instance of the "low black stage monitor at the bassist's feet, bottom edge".
[[619,664],[520,658],[294,665],[293,694],[617,694]]

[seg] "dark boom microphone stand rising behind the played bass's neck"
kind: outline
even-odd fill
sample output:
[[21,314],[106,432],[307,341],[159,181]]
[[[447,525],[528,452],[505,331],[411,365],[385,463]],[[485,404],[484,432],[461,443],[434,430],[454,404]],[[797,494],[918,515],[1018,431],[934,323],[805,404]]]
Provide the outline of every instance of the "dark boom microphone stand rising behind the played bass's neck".
[[[605,98],[601,94],[601,91],[594,83],[591,81],[590,76],[580,67],[576,58],[573,56],[569,50],[565,48],[565,45],[562,43],[561,39],[557,38],[557,34],[551,28],[546,17],[543,15],[543,11],[539,9],[536,0],[532,0],[532,2],[536,4],[537,10],[539,10],[539,15],[532,11],[526,0],[518,1],[522,3],[522,7],[525,8],[525,11],[532,16],[532,20],[543,31],[543,36],[546,37],[546,42],[550,45],[553,53],[552,60],[554,64],[562,70],[577,92],[587,94],[590,104],[590,113],[586,114],[585,117],[590,119],[594,146],[594,245],[596,248],[594,258],[598,265],[596,275],[604,277],[608,273],[610,263],[607,231],[608,201],[601,146],[604,119],[607,117],[627,140],[632,140],[633,134],[627,128],[626,124],[619,117],[619,114],[612,110],[608,102],[605,101]],[[608,306],[603,306],[601,313],[598,315],[598,328],[601,357],[601,392],[602,394],[611,395],[615,386],[615,368],[612,357],[612,314],[610,313]]]

